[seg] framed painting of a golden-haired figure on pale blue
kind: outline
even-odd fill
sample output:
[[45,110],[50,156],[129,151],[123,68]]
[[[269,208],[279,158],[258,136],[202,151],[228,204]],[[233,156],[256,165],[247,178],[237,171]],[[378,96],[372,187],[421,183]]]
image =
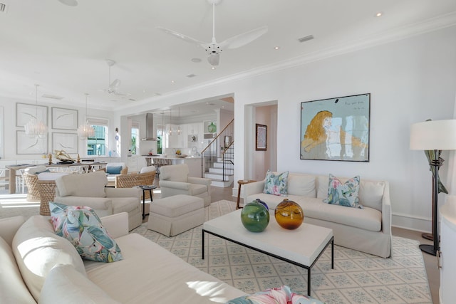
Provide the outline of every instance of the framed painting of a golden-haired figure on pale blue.
[[369,161],[371,94],[301,103],[301,159]]

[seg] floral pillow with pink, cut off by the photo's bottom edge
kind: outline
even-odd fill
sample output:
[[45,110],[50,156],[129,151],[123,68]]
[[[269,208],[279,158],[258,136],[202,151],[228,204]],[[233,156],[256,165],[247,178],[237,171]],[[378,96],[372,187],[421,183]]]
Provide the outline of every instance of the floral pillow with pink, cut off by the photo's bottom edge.
[[244,295],[227,304],[270,304],[270,303],[290,303],[290,304],[323,304],[323,302],[306,295],[293,293],[286,285],[280,288],[271,288],[252,295]]

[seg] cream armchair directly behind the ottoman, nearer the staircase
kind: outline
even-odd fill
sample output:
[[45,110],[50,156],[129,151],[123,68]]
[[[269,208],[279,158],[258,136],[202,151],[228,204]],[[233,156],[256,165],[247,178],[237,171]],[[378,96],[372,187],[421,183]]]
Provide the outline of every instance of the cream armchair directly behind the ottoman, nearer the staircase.
[[176,194],[187,194],[204,199],[204,206],[211,204],[211,179],[189,177],[187,164],[172,164],[160,168],[160,190],[162,198]]

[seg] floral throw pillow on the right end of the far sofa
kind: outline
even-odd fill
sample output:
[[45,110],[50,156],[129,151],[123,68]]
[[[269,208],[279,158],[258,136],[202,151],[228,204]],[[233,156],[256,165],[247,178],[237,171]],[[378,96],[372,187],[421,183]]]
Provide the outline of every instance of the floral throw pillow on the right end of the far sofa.
[[328,198],[323,199],[323,201],[328,204],[363,208],[363,206],[359,204],[358,198],[359,181],[360,177],[356,176],[352,179],[348,179],[345,183],[342,183],[338,178],[333,176],[333,174],[329,174]]

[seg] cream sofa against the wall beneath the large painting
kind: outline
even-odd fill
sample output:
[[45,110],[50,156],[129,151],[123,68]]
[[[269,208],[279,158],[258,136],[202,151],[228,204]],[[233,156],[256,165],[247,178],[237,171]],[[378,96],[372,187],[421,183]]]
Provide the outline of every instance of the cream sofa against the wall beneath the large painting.
[[[274,172],[275,174],[279,174]],[[346,182],[346,178],[340,178]],[[391,204],[389,184],[361,178],[359,202],[363,209],[326,204],[328,176],[289,173],[288,195],[264,194],[265,180],[244,184],[244,204],[261,199],[274,212],[283,199],[296,201],[304,210],[304,222],[333,229],[334,243],[388,258],[391,255]]]

